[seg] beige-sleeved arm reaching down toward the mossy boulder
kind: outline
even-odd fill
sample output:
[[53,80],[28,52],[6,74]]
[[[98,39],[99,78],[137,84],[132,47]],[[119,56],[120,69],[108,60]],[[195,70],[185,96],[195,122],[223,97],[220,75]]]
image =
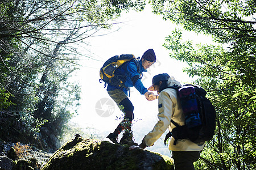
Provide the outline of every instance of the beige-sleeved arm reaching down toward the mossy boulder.
[[159,121],[155,124],[154,128],[143,138],[146,146],[154,145],[155,141],[157,141],[162,136],[164,131],[166,131],[170,125],[172,116],[172,101],[167,92],[163,91],[160,93],[158,104]]

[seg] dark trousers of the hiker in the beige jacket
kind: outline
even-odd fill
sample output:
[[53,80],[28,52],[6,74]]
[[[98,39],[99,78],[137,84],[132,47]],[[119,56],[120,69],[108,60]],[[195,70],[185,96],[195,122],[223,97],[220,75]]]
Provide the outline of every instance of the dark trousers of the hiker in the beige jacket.
[[199,159],[201,151],[172,151],[175,170],[195,170],[193,162]]

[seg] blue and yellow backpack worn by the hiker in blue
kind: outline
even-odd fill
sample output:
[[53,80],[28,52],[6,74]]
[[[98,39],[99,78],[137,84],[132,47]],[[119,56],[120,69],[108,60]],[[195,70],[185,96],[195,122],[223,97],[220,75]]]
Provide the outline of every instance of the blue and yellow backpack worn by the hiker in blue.
[[138,71],[138,73],[140,73],[139,62],[138,62],[137,58],[135,58],[135,56],[132,54],[122,54],[121,56],[111,57],[104,63],[104,65],[100,69],[99,81],[105,82],[105,87],[106,87],[106,84],[112,84],[113,86],[127,88],[127,87],[125,87],[125,84],[123,84],[124,82],[122,82],[122,80],[119,79],[120,76],[125,76],[125,75],[115,76],[114,72],[123,63],[129,62],[129,61],[135,63],[135,65],[137,66],[137,71]]

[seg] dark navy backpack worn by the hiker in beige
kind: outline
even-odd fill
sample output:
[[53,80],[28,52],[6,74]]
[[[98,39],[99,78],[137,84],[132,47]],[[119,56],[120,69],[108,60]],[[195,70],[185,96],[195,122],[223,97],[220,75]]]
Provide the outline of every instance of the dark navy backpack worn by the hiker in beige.
[[176,127],[166,135],[164,145],[169,137],[174,137],[174,145],[178,139],[190,139],[197,144],[203,144],[213,138],[216,128],[216,111],[205,97],[207,92],[200,86],[185,84],[172,86],[180,98],[181,108],[185,114],[185,125],[179,126],[174,120]]

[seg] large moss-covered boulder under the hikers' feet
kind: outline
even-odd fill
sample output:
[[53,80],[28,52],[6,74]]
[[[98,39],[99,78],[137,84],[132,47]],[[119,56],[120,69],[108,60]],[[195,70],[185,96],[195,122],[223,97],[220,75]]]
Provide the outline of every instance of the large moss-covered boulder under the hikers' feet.
[[78,137],[59,148],[41,170],[58,169],[174,169],[174,166],[168,156]]

